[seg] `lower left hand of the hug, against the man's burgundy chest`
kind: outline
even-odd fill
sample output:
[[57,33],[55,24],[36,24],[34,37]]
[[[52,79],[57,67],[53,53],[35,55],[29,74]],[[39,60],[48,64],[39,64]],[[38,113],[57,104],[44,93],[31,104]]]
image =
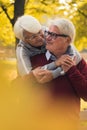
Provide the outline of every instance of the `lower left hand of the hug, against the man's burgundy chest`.
[[52,72],[38,67],[33,70],[33,74],[39,83],[47,83],[53,79]]

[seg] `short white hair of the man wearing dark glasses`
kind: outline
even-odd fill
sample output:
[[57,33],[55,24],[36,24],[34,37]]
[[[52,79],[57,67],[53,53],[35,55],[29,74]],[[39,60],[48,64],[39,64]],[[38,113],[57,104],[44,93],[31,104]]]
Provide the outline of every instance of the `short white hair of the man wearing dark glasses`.
[[58,18],[51,20],[49,25],[56,25],[61,34],[68,35],[71,38],[71,42],[74,41],[76,30],[74,24],[70,20],[65,18]]

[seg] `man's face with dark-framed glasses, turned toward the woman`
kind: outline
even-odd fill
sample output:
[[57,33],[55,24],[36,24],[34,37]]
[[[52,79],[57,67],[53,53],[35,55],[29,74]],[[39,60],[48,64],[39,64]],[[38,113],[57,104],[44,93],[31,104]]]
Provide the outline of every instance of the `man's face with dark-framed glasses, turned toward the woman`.
[[61,34],[57,26],[51,25],[46,34],[46,49],[56,57],[59,57],[67,50],[69,45],[68,38],[67,35]]

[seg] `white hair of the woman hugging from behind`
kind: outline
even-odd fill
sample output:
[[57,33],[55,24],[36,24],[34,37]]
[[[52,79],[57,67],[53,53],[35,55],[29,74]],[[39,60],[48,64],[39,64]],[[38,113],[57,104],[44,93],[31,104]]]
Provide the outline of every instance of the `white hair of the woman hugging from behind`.
[[19,17],[14,24],[15,36],[18,39],[23,40],[24,30],[36,34],[41,30],[41,24],[35,17],[31,15],[23,15]]

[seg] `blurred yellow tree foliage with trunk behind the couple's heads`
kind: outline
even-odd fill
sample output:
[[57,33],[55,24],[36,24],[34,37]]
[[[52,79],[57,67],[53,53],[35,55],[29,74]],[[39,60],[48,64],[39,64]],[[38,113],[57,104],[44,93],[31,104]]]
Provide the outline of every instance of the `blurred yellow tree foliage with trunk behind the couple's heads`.
[[35,16],[42,25],[50,18],[70,19],[76,27],[77,49],[87,48],[86,0],[0,0],[0,46],[15,46],[13,26],[23,14]]

